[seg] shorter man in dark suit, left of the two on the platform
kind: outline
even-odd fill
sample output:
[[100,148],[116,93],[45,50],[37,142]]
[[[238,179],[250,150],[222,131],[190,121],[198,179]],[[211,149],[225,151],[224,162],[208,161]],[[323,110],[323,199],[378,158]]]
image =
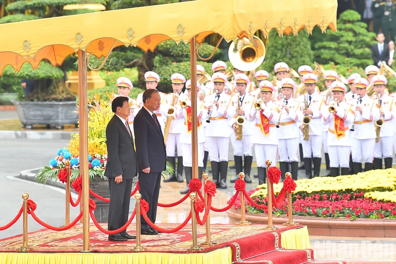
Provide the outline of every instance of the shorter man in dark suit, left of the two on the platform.
[[[130,113],[128,97],[117,97],[111,104],[114,116],[107,124],[107,164],[104,176],[108,177],[110,205],[108,230],[121,228],[129,216],[132,178],[138,174],[135,147],[127,118]],[[135,239],[126,230],[109,235],[110,241]]]

